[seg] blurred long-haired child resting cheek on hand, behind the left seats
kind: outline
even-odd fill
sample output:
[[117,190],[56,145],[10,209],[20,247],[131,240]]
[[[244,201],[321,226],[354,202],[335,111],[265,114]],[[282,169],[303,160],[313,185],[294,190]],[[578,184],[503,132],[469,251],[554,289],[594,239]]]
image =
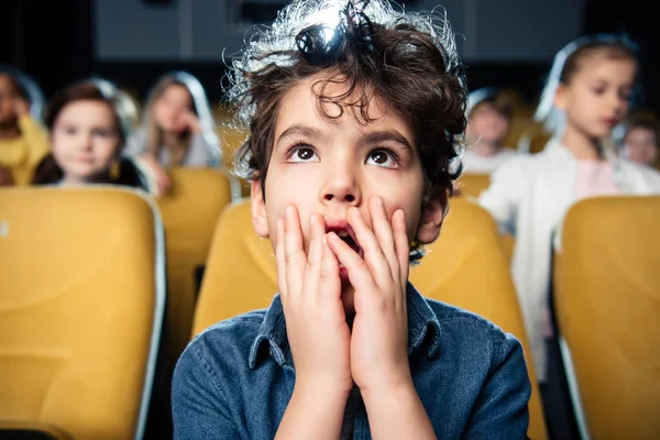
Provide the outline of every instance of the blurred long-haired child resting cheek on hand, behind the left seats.
[[143,125],[130,136],[125,154],[147,165],[161,194],[169,187],[165,168],[220,163],[216,125],[197,78],[185,72],[164,75],[145,107]]

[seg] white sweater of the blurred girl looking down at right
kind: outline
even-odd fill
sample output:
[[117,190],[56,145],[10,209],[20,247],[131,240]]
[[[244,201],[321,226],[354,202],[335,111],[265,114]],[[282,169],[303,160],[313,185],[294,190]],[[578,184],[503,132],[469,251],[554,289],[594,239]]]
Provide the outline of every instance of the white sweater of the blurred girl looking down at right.
[[[622,195],[660,194],[660,173],[608,156]],[[552,237],[575,201],[578,160],[558,140],[518,156],[491,177],[480,204],[516,237],[512,273],[539,381],[546,377],[544,328],[552,275]]]

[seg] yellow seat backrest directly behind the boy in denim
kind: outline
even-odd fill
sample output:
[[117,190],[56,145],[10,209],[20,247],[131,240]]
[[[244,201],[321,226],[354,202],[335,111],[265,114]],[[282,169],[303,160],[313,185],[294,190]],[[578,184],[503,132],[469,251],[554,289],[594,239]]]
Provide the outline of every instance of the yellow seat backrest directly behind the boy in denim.
[[[436,251],[437,250],[437,251]],[[410,280],[427,297],[474,311],[515,334],[529,353],[529,342],[508,261],[497,227],[475,204],[455,199],[440,239]],[[277,292],[273,249],[252,229],[250,204],[228,207],[222,213],[209,255],[194,323],[194,334],[222,319],[268,307]],[[532,386],[529,435],[544,439],[546,428],[534,365],[527,366]]]

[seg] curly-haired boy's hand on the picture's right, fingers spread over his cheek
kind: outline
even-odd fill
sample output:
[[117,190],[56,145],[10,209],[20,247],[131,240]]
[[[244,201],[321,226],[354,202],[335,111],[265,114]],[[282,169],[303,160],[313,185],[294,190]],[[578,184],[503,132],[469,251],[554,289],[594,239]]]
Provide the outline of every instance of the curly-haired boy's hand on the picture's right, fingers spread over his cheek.
[[356,208],[349,209],[348,222],[364,253],[360,257],[334,233],[330,249],[346,267],[355,289],[355,318],[351,336],[351,373],[362,394],[371,389],[411,386],[408,364],[408,234],[403,210],[394,212],[392,224],[383,199],[370,200],[372,226]]

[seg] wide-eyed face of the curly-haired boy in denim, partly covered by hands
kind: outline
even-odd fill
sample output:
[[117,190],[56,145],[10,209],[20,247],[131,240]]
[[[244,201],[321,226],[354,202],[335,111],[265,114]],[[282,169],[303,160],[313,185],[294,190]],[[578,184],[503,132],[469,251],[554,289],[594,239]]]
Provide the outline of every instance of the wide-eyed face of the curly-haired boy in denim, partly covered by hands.
[[[371,224],[369,202],[381,196],[389,219],[397,209],[404,210],[409,240],[417,238],[422,244],[436,240],[444,204],[431,200],[422,212],[422,167],[410,122],[378,99],[369,108],[373,122],[362,123],[350,107],[343,107],[341,117],[329,119],[319,106],[332,117],[339,116],[339,108],[319,103],[312,91],[319,79],[324,77],[300,81],[280,101],[265,199],[258,182],[252,187],[257,234],[271,238],[275,245],[277,220],[288,205],[294,205],[307,252],[312,213],[324,218],[328,231],[352,234],[346,210],[356,207]],[[329,86],[324,95],[339,95],[344,87]],[[361,249],[356,251],[362,254]],[[352,288],[342,280],[344,307],[351,309]]]

